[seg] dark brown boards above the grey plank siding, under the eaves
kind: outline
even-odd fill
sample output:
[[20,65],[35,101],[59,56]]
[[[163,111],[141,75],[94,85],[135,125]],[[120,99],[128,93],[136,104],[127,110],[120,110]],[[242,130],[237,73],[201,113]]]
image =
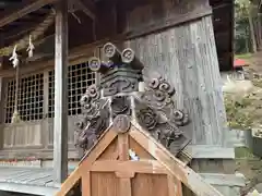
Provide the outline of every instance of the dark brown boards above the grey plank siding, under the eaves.
[[[138,14],[142,20],[139,20]],[[211,14],[212,8],[206,0],[154,1],[129,13],[129,26],[126,35],[132,39],[190,23]]]

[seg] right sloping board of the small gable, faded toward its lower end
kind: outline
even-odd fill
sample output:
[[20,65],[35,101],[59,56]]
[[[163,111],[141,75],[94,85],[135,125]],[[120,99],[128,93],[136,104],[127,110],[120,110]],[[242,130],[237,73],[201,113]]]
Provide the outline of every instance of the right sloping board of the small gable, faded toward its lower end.
[[[150,135],[136,121],[132,121],[135,130],[130,131],[130,136],[144,147],[157,161],[196,195],[222,196],[203,177],[194,172],[187,163],[176,158],[169,150]],[[147,142],[147,144],[145,143]]]

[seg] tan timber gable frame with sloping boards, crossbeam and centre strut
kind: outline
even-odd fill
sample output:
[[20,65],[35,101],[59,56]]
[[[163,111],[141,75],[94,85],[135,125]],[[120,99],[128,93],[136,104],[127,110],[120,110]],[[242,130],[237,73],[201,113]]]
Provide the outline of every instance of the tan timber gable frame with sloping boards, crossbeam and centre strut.
[[[194,194],[199,196],[223,196],[216,188],[210,185],[200,174],[195,173],[186,163],[180,161],[174,155],[171,155],[162,144],[159,144],[153,136],[151,136],[147,131],[136,123],[135,120],[130,122],[130,127],[127,132],[122,133],[120,130],[116,128],[115,123],[109,126],[109,128],[104,133],[100,139],[92,147],[91,150],[86,152],[83,160],[80,162],[79,167],[67,179],[67,181],[61,185],[60,191],[56,196],[66,195],[71,191],[71,188],[82,179],[85,180],[84,187],[82,187],[84,195],[91,195],[91,186],[86,184],[86,172],[87,171],[115,171],[121,170],[126,167],[129,172],[135,173],[135,171],[141,172],[141,166],[146,170],[147,173],[163,173],[164,171],[172,179],[172,194],[176,195],[174,186],[177,181],[183,183],[189,187]],[[126,137],[126,139],[124,139]],[[109,145],[118,138],[117,149],[114,148],[110,156],[102,160],[99,157],[109,148]],[[153,159],[145,160],[141,159],[138,161],[131,161],[129,158],[121,159],[123,156],[123,150],[126,152],[129,148],[130,139],[134,139],[146,152],[148,152]],[[121,142],[120,142],[121,140]],[[120,143],[119,143],[120,142]],[[123,156],[124,157],[124,156]],[[154,160],[155,159],[155,160]],[[103,166],[104,163],[104,166]],[[105,164],[106,163],[106,164]],[[107,167],[105,167],[107,166]],[[135,167],[134,167],[135,166]],[[129,168],[130,167],[130,168]],[[134,167],[134,171],[132,169]],[[117,171],[115,171],[117,172]],[[88,172],[90,173],[90,172]],[[90,175],[88,175],[90,177]],[[91,180],[88,180],[90,182]]]

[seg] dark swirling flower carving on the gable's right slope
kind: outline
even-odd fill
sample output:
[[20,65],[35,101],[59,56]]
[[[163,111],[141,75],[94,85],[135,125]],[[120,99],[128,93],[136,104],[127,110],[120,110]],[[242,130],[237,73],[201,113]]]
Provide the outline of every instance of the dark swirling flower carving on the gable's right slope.
[[188,113],[176,109],[175,88],[160,76],[151,79],[136,97],[136,121],[167,149],[177,154],[190,139],[179,130],[189,123]]

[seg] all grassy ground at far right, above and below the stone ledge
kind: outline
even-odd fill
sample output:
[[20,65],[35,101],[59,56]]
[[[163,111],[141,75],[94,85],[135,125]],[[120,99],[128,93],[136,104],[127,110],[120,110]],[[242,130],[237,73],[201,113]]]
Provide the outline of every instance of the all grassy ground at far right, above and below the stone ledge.
[[[246,59],[250,64],[246,70],[245,82],[228,84],[229,90],[224,93],[228,125],[233,128],[250,131],[262,125],[262,52],[243,54],[238,58]],[[231,85],[231,86],[230,86]],[[231,89],[231,90],[230,90]],[[245,147],[236,148],[236,171],[247,177],[247,193],[257,188],[262,192],[262,161]]]

